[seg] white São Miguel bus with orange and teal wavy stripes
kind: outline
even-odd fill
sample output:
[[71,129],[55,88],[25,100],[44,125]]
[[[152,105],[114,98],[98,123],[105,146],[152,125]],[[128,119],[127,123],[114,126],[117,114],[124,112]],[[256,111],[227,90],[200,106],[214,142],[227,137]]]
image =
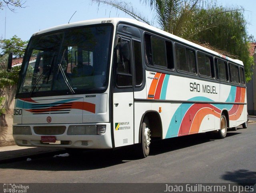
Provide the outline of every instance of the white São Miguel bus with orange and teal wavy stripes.
[[242,61],[148,24],[64,24],[33,34],[26,48],[14,107],[17,145],[133,145],[144,158],[151,139],[208,131],[224,138],[238,125],[247,127]]

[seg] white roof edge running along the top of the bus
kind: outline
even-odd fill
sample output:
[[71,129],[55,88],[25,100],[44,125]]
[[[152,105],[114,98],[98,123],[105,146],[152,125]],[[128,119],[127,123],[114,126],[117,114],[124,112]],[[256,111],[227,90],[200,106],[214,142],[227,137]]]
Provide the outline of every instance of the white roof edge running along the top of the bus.
[[173,34],[170,34],[168,32],[165,32],[163,30],[160,30],[158,28],[155,28],[153,26],[150,26],[148,24],[145,24],[143,22],[140,22],[140,21],[137,21],[137,20],[134,20],[134,19],[130,19],[130,18],[99,18],[99,19],[93,19],[93,20],[84,20],[84,21],[80,21],[80,22],[74,22],[74,23],[70,23],[70,24],[63,24],[63,25],[60,25],[60,26],[55,26],[55,27],[52,27],[52,28],[41,30],[39,32],[36,32],[32,36],[35,36],[35,35],[38,35],[38,34],[44,34],[44,33],[51,32],[51,31],[62,30],[62,29],[65,29],[65,28],[72,28],[72,27],[86,26],[86,25],[93,25],[93,24],[112,23],[112,24],[114,24],[114,26],[116,26],[119,22],[126,22],[126,23],[129,23],[129,24],[135,25],[135,26],[139,26],[139,27],[142,27],[142,28],[146,28],[148,30],[152,30],[152,31],[157,32],[159,34],[162,34],[164,36],[168,36],[168,37],[170,37],[174,40],[184,42],[185,44],[191,45],[191,46],[193,46],[195,48],[198,48],[200,50],[204,50],[208,53],[217,55],[221,58],[229,60],[230,62],[235,62],[236,64],[240,64],[240,65],[244,66],[244,64],[241,60],[235,60],[235,59],[232,59],[230,57],[224,56],[222,54],[219,54],[218,52],[215,52],[213,50],[210,50],[208,48],[205,48],[203,46],[200,46],[198,44],[195,44],[193,42],[190,42],[188,40],[185,40],[183,38],[180,38],[178,36],[175,36]]

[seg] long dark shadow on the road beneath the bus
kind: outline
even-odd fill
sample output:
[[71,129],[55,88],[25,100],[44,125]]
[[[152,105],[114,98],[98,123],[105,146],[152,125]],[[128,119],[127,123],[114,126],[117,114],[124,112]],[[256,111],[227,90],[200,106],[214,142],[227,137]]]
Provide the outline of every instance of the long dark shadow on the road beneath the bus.
[[[156,140],[152,142],[150,156],[175,151],[210,141],[219,140],[215,133],[199,133],[171,139]],[[240,134],[239,132],[227,133],[226,137]],[[29,156],[28,156],[29,157]],[[90,150],[68,157],[38,157],[31,161],[19,161],[0,164],[0,168],[25,169],[36,171],[84,171],[100,169],[136,160],[134,148],[131,146],[116,150]]]

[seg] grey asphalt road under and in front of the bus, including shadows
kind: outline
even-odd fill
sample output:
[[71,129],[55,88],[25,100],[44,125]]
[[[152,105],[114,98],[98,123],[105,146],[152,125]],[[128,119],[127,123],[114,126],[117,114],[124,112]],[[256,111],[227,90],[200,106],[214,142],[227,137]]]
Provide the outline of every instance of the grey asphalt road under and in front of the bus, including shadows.
[[256,183],[256,123],[154,141],[146,159],[131,148],[0,164],[0,183]]

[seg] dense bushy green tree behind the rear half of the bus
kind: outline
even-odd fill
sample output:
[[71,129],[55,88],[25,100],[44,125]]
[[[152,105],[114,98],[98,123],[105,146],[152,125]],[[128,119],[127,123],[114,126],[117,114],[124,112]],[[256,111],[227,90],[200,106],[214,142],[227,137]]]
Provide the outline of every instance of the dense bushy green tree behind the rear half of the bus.
[[224,50],[225,55],[244,63],[246,81],[251,80],[251,67],[254,64],[248,51],[246,20],[243,9],[228,9],[207,6],[197,9],[191,17],[188,26],[190,32],[185,33],[185,39],[210,44],[214,48]]

